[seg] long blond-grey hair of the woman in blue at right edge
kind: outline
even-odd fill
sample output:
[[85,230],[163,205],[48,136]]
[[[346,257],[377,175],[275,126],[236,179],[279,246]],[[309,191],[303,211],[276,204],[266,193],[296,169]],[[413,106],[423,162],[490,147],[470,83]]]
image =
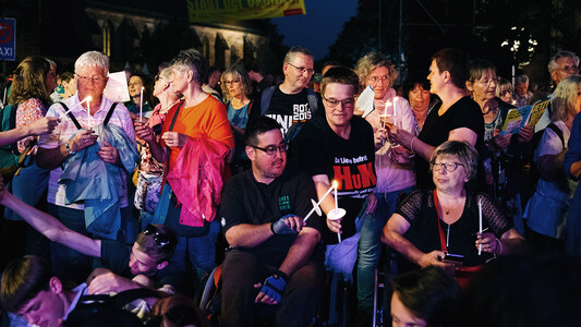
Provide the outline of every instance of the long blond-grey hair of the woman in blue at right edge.
[[574,116],[574,102],[581,85],[581,76],[569,76],[562,80],[555,88],[550,98],[550,121],[565,121],[567,116]]

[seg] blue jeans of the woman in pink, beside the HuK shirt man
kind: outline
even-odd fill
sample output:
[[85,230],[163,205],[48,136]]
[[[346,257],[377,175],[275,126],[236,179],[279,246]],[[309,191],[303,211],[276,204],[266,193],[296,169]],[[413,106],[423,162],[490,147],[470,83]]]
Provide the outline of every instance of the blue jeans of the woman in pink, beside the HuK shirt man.
[[394,215],[400,193],[410,193],[415,186],[403,190],[375,193],[377,206],[374,215],[365,216],[359,240],[358,262],[358,300],[359,307],[373,307],[373,292],[375,288],[375,268],[382,255],[382,233],[387,219]]

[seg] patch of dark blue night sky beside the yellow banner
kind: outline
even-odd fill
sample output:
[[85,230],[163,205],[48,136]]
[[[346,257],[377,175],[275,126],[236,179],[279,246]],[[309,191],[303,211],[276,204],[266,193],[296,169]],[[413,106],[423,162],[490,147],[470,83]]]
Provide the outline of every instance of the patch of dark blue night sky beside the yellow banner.
[[328,52],[343,23],[356,14],[358,0],[304,0],[306,15],[273,19],[286,46],[303,46],[319,60]]

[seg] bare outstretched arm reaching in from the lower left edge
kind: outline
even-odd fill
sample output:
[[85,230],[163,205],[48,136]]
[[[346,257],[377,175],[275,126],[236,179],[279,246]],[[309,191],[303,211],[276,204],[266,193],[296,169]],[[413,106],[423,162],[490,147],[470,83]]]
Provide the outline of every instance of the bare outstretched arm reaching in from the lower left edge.
[[12,209],[39,233],[53,242],[61,243],[85,255],[94,257],[101,256],[101,241],[89,239],[68,229],[57,218],[25,204],[20,198],[3,190],[3,186],[1,189],[0,193],[2,194],[2,198],[0,199],[0,204]]

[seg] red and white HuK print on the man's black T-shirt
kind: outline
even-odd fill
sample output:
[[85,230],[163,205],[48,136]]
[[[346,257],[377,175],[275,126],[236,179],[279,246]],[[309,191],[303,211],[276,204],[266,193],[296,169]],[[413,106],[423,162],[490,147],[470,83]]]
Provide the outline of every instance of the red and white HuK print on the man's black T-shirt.
[[377,177],[373,162],[367,156],[356,158],[335,158],[332,165],[334,180],[339,183],[337,193],[339,197],[363,198],[377,184]]

